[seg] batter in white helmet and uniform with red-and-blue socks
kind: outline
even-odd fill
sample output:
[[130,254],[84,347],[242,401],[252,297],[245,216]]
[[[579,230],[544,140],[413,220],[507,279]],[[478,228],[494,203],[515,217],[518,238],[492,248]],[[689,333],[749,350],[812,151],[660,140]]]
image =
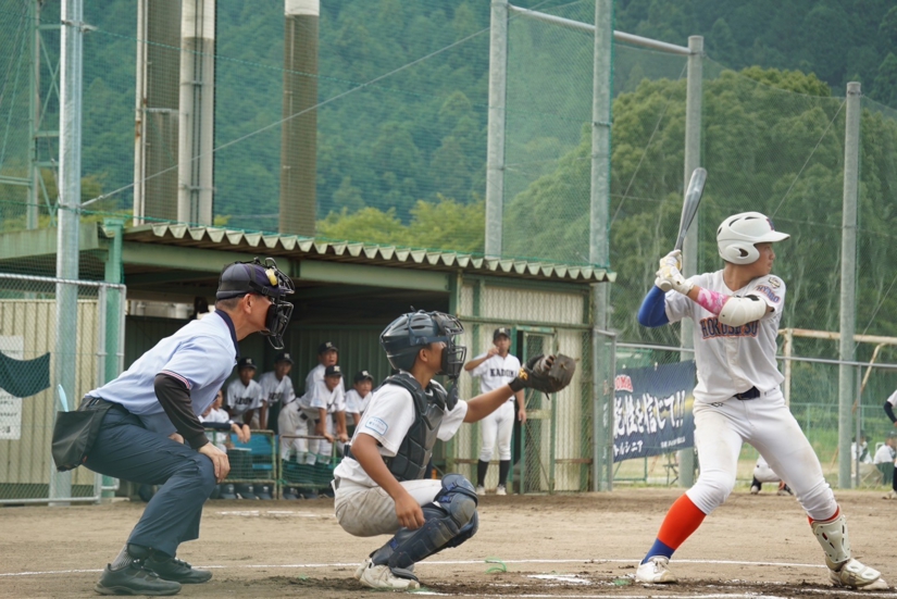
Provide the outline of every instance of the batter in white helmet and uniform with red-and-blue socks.
[[695,445],[701,463],[697,483],[673,503],[638,566],[641,583],[676,582],[671,556],[732,492],[742,444],[748,442],[794,489],[825,552],[832,584],[887,588],[876,570],[852,557],[844,514],[778,388],[784,377],[775,339],[785,283],[771,274],[772,245],[787,237],[759,212],[730,216],[717,232],[723,270],[686,279],[681,253],[670,252],[641,304],[638,322],[645,326],[695,322]]

